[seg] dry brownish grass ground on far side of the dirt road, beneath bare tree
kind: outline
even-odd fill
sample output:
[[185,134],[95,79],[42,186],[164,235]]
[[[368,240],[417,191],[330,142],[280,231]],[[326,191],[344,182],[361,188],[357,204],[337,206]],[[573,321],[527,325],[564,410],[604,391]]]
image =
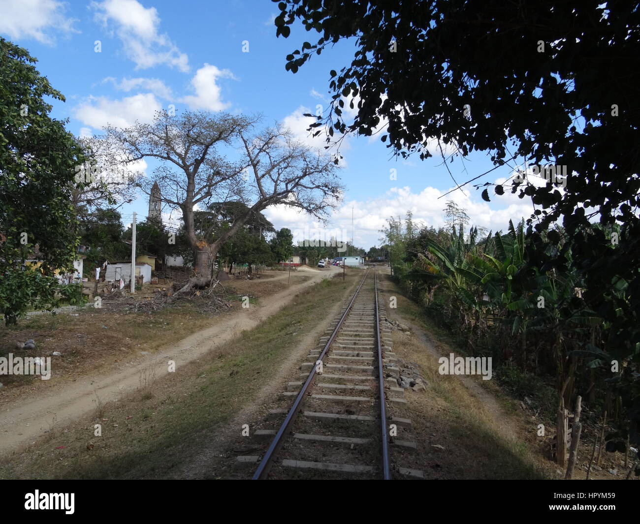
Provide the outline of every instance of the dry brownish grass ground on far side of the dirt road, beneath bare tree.
[[[224,282],[219,295],[232,302],[232,308],[218,315],[198,310],[189,301],[154,312],[113,311],[104,308],[86,307],[70,313],[41,314],[23,319],[17,326],[3,326],[0,329],[0,356],[54,356],[54,380],[42,381],[28,375],[3,376],[0,388],[0,402],[10,401],[31,392],[39,392],[68,380],[77,380],[87,374],[106,374],[118,363],[126,362],[141,351],[155,353],[165,345],[179,342],[195,331],[211,326],[220,315],[233,314],[241,309],[239,296],[249,294],[252,303],[287,287],[287,280],[275,280],[278,272],[262,274],[258,280],[232,280]],[[292,275],[291,284],[305,282],[306,275]],[[144,292],[137,294],[144,299],[154,295],[154,290],[162,286],[145,286]],[[166,285],[164,286],[166,287]],[[124,309],[124,308],[123,308]],[[36,348],[31,351],[16,349],[16,342],[33,338]]]

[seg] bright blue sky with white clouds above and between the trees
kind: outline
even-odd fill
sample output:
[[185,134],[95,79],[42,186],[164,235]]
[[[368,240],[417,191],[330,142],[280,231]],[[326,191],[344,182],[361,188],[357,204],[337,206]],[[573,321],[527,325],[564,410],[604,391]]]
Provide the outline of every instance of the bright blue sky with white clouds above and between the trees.
[[[176,111],[262,113],[266,123],[282,121],[299,139],[322,145],[309,138],[310,122],[302,114],[316,113],[317,104],[326,107],[329,71],[351,61],[355,42],[341,42],[291,74],[285,56],[317,33],[307,34],[298,24],[289,38],[276,38],[276,13],[270,0],[0,0],[0,35],[38,58],[38,70],[67,98],[54,104],[54,116],[69,118],[76,135],[97,134],[108,122],[149,120],[154,110],[173,104]],[[296,239],[314,231],[349,239],[353,208],[355,244],[369,248],[378,244],[385,219],[406,210],[428,225],[442,225],[447,198],[465,207],[473,223],[492,230],[505,230],[509,218],[532,210],[530,201],[510,192],[486,203],[469,186],[438,199],[454,187],[442,159],[396,159],[379,138],[350,137],[341,152],[346,191],[326,232],[314,219],[280,206],[265,212],[276,228],[291,228]],[[492,164],[486,155],[472,154],[450,168],[462,182]],[[504,167],[482,182],[509,176],[511,168]],[[133,211],[144,218],[146,199],[123,205],[125,218]],[[168,216],[170,209],[163,211]]]

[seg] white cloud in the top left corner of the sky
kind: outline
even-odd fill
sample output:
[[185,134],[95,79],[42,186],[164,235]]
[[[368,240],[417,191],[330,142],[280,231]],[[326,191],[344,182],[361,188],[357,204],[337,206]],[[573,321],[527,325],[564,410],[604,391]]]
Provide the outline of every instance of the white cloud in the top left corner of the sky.
[[35,38],[52,44],[51,31],[77,33],[76,19],[65,17],[65,4],[58,0],[2,0],[0,33],[10,38]]

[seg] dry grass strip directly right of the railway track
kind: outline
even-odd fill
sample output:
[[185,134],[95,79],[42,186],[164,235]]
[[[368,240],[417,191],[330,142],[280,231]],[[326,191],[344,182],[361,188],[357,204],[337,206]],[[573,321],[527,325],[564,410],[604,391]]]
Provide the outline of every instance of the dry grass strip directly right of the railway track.
[[[423,393],[406,392],[412,434],[420,443],[416,467],[421,465],[426,477],[434,479],[547,478],[529,443],[515,432],[519,420],[502,411],[477,383],[480,377],[463,381],[459,376],[440,375],[438,356],[458,352],[420,329],[419,307],[402,296],[394,283],[387,280],[383,289],[385,296],[397,298],[397,309],[387,309],[390,318],[416,326],[412,333],[394,331],[394,351],[399,358],[417,363],[429,385]],[[476,381],[475,386],[469,380]]]

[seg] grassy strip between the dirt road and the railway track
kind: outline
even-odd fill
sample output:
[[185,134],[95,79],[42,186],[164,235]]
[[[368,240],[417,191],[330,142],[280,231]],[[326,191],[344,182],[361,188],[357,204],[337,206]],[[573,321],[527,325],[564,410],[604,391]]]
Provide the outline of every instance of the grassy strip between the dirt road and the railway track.
[[[140,390],[109,402],[69,427],[58,427],[26,449],[6,456],[0,478],[173,478],[182,464],[220,434],[252,401],[294,350],[300,333],[313,329],[326,305],[358,278],[323,281],[296,295],[255,329],[161,379],[141,376]],[[102,424],[102,436],[94,425]]]

